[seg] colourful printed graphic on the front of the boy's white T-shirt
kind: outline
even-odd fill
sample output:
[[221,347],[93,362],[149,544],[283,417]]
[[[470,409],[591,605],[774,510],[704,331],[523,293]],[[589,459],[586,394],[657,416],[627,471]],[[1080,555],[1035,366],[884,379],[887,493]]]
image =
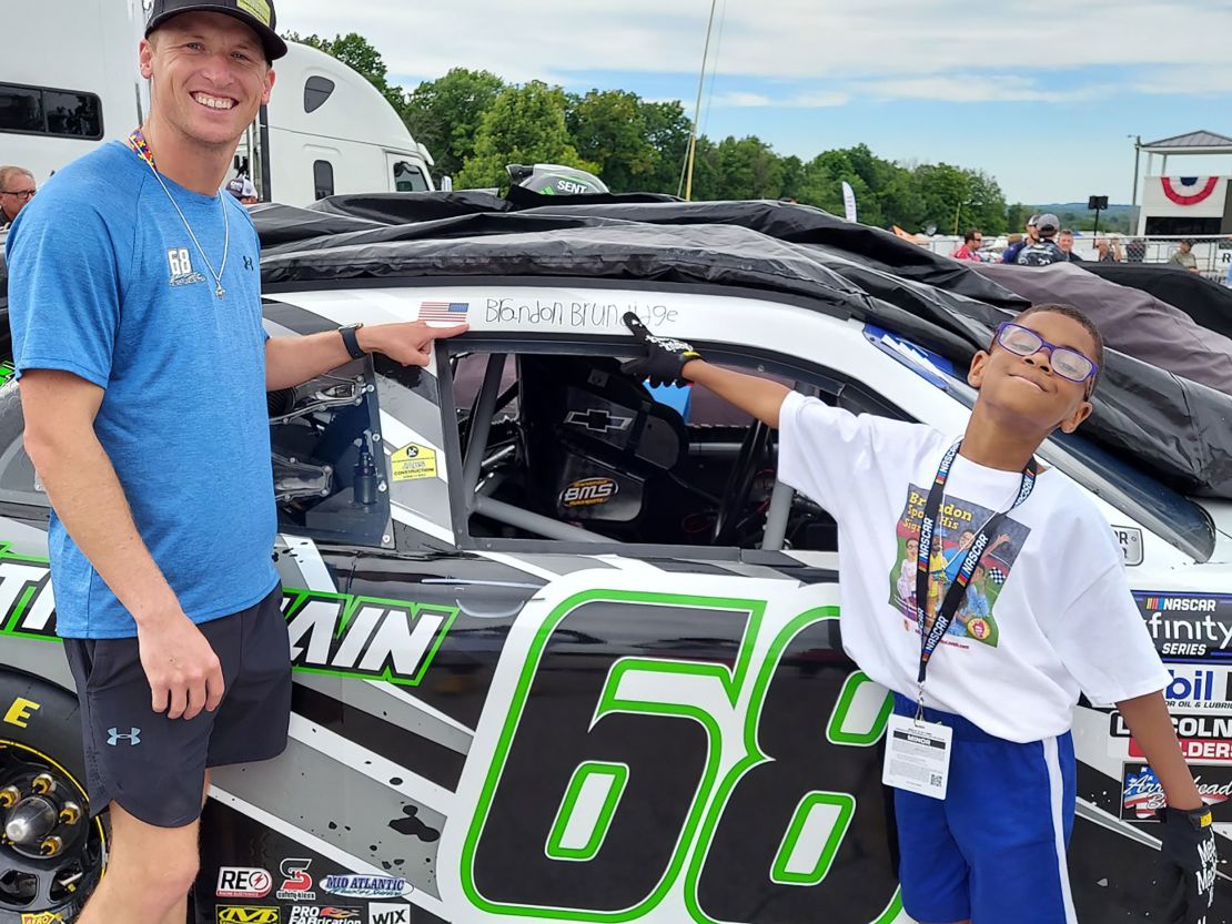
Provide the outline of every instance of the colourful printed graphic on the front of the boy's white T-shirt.
[[[898,517],[896,536],[898,554],[893,570],[890,573],[890,605],[897,609],[908,628],[915,626],[915,561],[919,556],[920,521],[924,519],[924,503],[928,492],[912,485],[907,493],[907,504]],[[938,515],[938,530],[933,538],[931,567],[929,569],[928,614],[929,625],[936,618],[945,591],[962,567],[962,559],[975,541],[976,535],[998,511],[972,504],[962,498],[945,498]],[[967,647],[972,639],[982,644],[997,647],[1000,633],[993,607],[1000,596],[1002,586],[1009,579],[1010,569],[1018,558],[1023,543],[1031,530],[1013,517],[1004,517],[994,535],[988,540],[988,547],[967,585],[966,596],[946,630],[947,644]]]

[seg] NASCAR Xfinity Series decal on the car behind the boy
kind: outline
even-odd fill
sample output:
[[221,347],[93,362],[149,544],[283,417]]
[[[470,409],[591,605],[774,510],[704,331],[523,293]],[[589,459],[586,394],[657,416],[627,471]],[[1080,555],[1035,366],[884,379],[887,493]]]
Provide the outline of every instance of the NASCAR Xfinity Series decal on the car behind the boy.
[[1165,662],[1232,664],[1232,595],[1135,590],[1133,599]]

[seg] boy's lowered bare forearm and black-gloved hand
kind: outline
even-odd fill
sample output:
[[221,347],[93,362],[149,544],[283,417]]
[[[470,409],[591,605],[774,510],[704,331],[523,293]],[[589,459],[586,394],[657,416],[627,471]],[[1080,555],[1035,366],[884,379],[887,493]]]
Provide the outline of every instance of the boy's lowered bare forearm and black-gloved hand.
[[1202,803],[1181,756],[1163,694],[1122,700],[1116,708],[1146,754],[1168,800],[1167,807],[1159,812],[1165,867],[1161,877],[1164,920],[1199,924],[1206,919],[1207,909],[1215,901],[1218,869],[1211,809]]

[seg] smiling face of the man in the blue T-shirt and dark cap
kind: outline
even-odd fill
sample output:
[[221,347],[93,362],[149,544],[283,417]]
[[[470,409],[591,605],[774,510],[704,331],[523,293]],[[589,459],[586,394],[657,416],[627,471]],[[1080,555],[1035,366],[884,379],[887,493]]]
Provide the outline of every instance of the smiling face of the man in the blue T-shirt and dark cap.
[[207,147],[232,145],[269,102],[274,71],[256,33],[217,12],[186,12],[142,42],[156,116]]

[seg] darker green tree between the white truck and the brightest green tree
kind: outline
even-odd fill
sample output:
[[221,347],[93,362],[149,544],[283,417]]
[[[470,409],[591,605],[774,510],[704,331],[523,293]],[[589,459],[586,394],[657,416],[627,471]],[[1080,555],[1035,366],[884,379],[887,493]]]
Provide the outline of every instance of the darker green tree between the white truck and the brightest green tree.
[[467,159],[474,156],[483,113],[504,89],[505,83],[487,70],[453,68],[408,94],[403,120],[415,140],[432,153],[434,174],[456,176]]

